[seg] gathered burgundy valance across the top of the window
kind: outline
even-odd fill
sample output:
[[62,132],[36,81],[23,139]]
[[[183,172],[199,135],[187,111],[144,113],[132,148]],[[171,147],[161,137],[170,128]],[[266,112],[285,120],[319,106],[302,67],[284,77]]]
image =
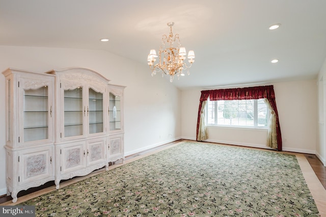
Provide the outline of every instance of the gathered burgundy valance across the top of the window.
[[232,88],[219,90],[201,91],[200,101],[206,101],[208,96],[210,101],[215,100],[241,100],[241,99],[275,99],[274,87],[258,86],[249,88]]

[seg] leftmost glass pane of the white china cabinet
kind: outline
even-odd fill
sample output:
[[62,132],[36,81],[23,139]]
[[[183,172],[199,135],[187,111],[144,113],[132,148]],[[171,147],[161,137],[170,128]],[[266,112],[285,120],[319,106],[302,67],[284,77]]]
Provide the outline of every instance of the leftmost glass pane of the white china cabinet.
[[48,139],[48,87],[24,90],[23,106],[24,142]]

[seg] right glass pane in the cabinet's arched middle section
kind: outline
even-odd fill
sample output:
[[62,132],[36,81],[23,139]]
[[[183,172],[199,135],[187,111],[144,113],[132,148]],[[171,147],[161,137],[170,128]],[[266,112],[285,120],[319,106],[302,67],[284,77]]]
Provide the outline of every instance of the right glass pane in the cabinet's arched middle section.
[[89,88],[89,133],[103,132],[103,94]]

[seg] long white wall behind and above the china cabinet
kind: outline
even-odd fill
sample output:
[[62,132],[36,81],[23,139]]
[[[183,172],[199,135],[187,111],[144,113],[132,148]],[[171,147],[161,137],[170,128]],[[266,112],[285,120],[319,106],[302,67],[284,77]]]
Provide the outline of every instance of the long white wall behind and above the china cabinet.
[[[43,73],[73,66],[94,70],[127,86],[124,100],[125,155],[181,138],[181,92],[167,79],[152,77],[140,64],[101,50],[0,46],[0,72],[7,68]],[[5,77],[0,75],[0,195],[5,179]]]

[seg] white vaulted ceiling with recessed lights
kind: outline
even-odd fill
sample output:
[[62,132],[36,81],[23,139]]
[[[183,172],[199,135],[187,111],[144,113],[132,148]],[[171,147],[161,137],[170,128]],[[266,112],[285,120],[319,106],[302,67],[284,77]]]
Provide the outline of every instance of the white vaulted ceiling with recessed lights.
[[314,78],[326,58],[324,0],[0,0],[0,45],[103,49],[147,65],[170,21],[196,55],[180,89]]

